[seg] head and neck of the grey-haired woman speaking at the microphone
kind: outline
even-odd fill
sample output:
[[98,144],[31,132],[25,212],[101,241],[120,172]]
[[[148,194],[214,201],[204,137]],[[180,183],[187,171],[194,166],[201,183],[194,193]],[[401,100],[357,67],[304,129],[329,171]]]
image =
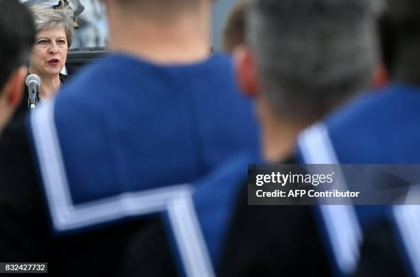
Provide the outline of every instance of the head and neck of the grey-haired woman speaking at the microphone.
[[64,5],[56,9],[34,5],[30,10],[34,16],[36,38],[29,73],[40,77],[38,102],[47,103],[65,82],[65,75],[60,72],[73,40],[73,11]]

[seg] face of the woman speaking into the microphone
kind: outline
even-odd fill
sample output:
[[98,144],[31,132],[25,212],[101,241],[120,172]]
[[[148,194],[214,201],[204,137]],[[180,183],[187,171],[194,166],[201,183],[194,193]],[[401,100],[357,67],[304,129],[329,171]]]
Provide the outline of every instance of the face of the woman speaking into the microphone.
[[65,66],[68,50],[65,27],[41,29],[30,58],[30,69],[34,71],[31,73],[58,75]]

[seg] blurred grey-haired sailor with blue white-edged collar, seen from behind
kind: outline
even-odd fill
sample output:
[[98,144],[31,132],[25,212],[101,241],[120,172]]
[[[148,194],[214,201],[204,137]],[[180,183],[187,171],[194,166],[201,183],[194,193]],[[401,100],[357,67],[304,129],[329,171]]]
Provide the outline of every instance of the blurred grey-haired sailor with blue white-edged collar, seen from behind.
[[235,68],[254,100],[263,160],[239,154],[197,180],[191,194],[174,197],[130,243],[126,276],[135,268],[145,276],[345,273],[336,271],[314,209],[248,206],[244,171],[250,163],[296,162],[299,132],[371,87],[375,10],[365,0],[253,0],[245,14]]

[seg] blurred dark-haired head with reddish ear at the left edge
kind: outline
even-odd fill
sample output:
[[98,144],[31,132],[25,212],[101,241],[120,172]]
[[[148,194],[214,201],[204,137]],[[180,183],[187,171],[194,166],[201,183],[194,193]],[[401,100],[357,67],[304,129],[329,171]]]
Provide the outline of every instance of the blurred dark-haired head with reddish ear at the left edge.
[[29,10],[17,0],[0,0],[0,131],[21,101],[27,59],[35,38]]

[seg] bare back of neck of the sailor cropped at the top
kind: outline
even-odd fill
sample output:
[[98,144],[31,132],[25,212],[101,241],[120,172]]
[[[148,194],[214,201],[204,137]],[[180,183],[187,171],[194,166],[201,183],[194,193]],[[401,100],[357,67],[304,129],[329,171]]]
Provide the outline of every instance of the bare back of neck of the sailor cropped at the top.
[[102,0],[110,51],[159,64],[209,56],[211,0]]

